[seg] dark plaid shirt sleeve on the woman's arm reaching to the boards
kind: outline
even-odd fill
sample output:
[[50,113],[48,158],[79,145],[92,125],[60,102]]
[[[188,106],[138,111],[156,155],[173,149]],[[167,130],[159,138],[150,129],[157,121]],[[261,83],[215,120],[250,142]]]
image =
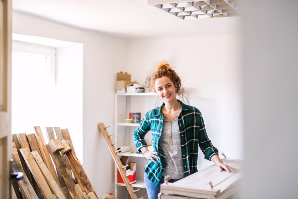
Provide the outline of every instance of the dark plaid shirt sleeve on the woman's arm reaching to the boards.
[[[201,112],[200,112],[201,113]],[[219,151],[217,148],[215,148],[211,140],[209,140],[207,136],[207,132],[205,129],[204,119],[202,117],[202,114],[200,114],[200,129],[199,129],[199,146],[202,150],[202,152],[205,155],[206,160],[210,160],[212,156],[219,155]]]

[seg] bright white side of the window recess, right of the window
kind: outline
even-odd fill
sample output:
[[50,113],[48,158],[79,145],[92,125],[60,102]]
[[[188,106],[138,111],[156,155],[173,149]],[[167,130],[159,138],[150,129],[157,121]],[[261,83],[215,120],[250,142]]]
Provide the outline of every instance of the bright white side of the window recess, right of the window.
[[83,164],[83,45],[56,48],[55,125],[68,128]]

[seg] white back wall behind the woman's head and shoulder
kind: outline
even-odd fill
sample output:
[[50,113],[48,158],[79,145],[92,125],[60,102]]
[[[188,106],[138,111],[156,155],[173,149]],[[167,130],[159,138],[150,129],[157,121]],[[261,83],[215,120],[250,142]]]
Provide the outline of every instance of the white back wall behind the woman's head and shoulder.
[[[202,112],[214,146],[228,158],[242,159],[240,47],[237,32],[132,39],[128,72],[133,80],[144,83],[160,61],[166,60],[176,67],[187,99]],[[131,107],[146,113],[154,105],[149,98],[147,101],[132,98]],[[211,163],[204,160],[203,153],[199,154],[199,170]]]

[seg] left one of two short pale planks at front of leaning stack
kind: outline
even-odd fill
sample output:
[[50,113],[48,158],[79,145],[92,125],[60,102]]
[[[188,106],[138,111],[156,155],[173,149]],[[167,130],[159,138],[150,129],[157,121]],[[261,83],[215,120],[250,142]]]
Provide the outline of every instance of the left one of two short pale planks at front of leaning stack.
[[43,174],[41,173],[32,154],[30,153],[30,150],[28,150],[27,148],[21,148],[20,152],[23,155],[23,158],[26,161],[27,166],[30,169],[40,191],[42,192],[42,195],[46,199],[54,199],[53,194],[52,194]]

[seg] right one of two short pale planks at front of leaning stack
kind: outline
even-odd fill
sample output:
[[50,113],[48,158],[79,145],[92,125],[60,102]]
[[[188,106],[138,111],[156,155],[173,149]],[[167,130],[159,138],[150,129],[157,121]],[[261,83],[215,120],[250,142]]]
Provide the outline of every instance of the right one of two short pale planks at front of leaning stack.
[[33,158],[35,159],[37,166],[39,167],[47,184],[49,185],[50,189],[52,190],[52,192],[56,196],[56,198],[57,199],[66,199],[64,194],[62,193],[61,189],[58,187],[56,181],[54,180],[53,176],[51,175],[49,169],[46,167],[45,163],[42,161],[38,152],[32,151],[31,154],[32,154]]

